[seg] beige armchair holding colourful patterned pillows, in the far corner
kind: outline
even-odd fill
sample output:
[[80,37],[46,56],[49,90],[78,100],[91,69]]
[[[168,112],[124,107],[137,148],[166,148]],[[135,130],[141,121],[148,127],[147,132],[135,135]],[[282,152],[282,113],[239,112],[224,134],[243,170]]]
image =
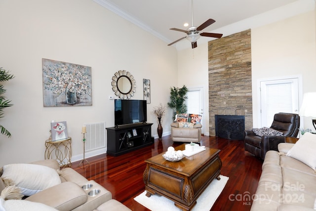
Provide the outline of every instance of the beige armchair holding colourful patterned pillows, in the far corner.
[[194,142],[201,140],[201,124],[195,124],[193,128],[179,127],[178,122],[171,124],[171,139],[177,142]]

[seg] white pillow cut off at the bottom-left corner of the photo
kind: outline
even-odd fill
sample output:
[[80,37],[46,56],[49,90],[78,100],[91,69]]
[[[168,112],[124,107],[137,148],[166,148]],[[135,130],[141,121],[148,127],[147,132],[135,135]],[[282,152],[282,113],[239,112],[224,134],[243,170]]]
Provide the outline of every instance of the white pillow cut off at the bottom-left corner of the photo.
[[[2,210],[3,209],[3,210]],[[26,200],[0,199],[0,211],[57,211],[47,205]]]

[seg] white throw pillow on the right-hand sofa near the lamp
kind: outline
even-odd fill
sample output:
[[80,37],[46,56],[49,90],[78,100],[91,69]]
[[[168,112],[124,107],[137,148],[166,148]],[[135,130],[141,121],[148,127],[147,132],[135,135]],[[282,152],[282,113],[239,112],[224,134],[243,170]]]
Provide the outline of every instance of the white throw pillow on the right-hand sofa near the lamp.
[[294,146],[287,152],[287,156],[295,158],[311,167],[316,169],[316,134],[310,132],[298,139]]

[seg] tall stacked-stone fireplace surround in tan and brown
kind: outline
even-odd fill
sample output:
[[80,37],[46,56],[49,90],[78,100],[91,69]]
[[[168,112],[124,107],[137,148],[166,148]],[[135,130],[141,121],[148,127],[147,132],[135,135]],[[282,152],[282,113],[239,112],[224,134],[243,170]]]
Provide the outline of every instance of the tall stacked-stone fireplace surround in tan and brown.
[[252,128],[250,35],[249,29],[208,42],[210,136],[215,115],[244,116],[245,129]]

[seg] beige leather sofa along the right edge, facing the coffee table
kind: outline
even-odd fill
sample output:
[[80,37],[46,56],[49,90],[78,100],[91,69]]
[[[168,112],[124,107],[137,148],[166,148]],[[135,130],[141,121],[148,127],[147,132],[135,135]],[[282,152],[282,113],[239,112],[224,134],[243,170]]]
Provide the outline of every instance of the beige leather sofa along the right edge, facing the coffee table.
[[[279,152],[266,153],[256,194],[251,196],[251,211],[314,211],[316,208],[315,169],[286,155],[293,146],[280,143]],[[310,143],[308,146],[313,148]],[[301,153],[315,161],[307,151]]]

